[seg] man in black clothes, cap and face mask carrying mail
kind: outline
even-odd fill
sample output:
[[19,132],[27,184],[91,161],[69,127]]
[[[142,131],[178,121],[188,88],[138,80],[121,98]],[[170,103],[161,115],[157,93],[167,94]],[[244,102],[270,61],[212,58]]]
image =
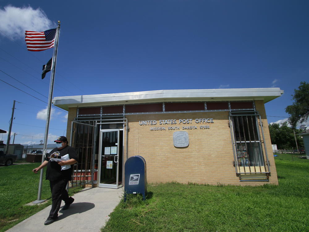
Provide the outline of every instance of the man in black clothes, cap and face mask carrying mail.
[[61,157],[61,161],[54,161],[53,158],[49,158],[46,155],[45,161],[39,167],[32,170],[34,173],[37,173],[40,169],[47,166],[46,180],[49,180],[52,192],[52,209],[44,225],[49,225],[57,220],[61,200],[65,202],[62,210],[68,209],[74,201],[74,198],[69,197],[66,185],[68,181],[72,180],[73,165],[78,161],[77,153],[74,148],[68,145],[68,140],[65,136],[60,136],[54,142],[57,148],[50,152],[49,157],[59,159]]

